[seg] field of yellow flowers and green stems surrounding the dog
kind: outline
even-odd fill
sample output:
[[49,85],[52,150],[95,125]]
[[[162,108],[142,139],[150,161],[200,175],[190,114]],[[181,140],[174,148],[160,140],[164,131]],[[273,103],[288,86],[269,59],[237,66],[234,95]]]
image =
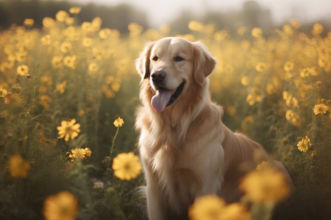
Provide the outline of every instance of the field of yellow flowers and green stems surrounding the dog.
[[[217,58],[212,98],[223,122],[261,143],[268,162],[247,175],[240,203],[196,200],[190,219],[329,219],[331,32],[292,19],[280,29],[233,34],[191,21],[176,35],[136,23],[129,35],[59,11],[0,34],[0,219],[146,219],[134,112],[143,45],[165,36],[200,40]],[[264,37],[268,35],[268,37]],[[212,215],[210,215],[212,213]]]

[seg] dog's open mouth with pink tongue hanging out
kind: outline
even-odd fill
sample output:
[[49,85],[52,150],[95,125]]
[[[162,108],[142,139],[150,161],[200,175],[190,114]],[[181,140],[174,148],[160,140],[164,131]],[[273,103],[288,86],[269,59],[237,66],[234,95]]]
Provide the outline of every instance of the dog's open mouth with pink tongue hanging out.
[[162,112],[167,106],[170,106],[179,97],[184,88],[185,82],[182,82],[175,90],[158,88],[156,94],[152,97],[150,104],[154,111]]

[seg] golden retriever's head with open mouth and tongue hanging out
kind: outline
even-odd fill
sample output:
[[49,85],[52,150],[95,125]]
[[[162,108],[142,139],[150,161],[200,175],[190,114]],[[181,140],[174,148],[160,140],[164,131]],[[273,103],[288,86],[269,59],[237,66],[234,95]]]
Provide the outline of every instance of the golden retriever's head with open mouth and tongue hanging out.
[[159,112],[174,104],[194,83],[202,86],[215,64],[202,43],[177,37],[147,43],[136,60],[142,79],[148,79],[155,91],[151,106]]

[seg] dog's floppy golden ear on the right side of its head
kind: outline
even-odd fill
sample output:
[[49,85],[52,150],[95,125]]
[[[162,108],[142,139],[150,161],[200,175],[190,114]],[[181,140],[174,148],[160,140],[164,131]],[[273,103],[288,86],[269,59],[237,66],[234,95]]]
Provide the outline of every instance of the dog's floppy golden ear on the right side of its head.
[[206,77],[215,68],[216,59],[207,50],[206,46],[199,41],[193,42],[193,56],[194,79],[199,85],[202,85]]

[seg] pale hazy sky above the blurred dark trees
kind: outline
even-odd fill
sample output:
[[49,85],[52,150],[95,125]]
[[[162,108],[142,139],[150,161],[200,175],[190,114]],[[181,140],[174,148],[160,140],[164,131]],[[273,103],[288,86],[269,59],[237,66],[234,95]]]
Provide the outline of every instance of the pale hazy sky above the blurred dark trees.
[[[69,0],[80,3],[117,5],[129,3],[144,11],[152,26],[171,21],[183,9],[201,15],[204,10],[240,10],[245,0]],[[262,7],[269,8],[276,23],[296,17],[302,22],[327,19],[331,21],[331,0],[257,0]]]

